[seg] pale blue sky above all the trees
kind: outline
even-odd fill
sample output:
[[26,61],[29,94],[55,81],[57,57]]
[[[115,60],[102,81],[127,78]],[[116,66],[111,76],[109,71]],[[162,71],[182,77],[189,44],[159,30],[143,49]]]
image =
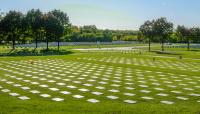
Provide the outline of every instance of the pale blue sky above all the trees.
[[60,9],[73,25],[136,30],[145,20],[167,17],[175,25],[200,26],[200,0],[0,0],[3,12]]

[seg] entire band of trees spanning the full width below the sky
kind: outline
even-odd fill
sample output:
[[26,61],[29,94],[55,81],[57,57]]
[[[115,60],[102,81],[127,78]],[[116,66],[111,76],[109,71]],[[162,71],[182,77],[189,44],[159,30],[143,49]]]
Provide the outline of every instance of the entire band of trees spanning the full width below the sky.
[[162,51],[167,42],[200,43],[200,28],[187,28],[177,26],[166,18],[146,21],[140,26],[139,31],[134,30],[101,30],[95,25],[73,26],[67,14],[60,10],[47,13],[39,9],[31,9],[25,14],[19,11],[0,13],[0,44],[35,43],[46,42],[47,50],[49,42],[57,42],[58,50],[60,42],[111,42],[111,41],[140,41],[148,42],[149,51],[151,42],[160,42]]

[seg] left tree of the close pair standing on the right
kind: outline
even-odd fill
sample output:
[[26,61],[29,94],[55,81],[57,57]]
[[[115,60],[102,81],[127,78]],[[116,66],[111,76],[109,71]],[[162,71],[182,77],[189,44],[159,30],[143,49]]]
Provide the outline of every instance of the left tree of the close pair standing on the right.
[[155,36],[154,20],[146,21],[143,25],[141,25],[140,32],[143,34],[145,38],[148,38],[149,51],[151,51],[151,39]]

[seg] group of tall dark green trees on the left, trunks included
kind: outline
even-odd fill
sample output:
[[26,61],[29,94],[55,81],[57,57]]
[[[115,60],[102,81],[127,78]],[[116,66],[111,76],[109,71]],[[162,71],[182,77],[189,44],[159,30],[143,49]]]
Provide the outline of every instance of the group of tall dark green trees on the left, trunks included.
[[0,19],[0,42],[12,41],[12,47],[15,49],[15,43],[35,42],[36,48],[38,41],[43,40],[59,42],[64,35],[65,30],[70,26],[69,18],[66,13],[60,10],[53,10],[43,13],[39,9],[32,9],[26,14],[19,11],[9,11]]

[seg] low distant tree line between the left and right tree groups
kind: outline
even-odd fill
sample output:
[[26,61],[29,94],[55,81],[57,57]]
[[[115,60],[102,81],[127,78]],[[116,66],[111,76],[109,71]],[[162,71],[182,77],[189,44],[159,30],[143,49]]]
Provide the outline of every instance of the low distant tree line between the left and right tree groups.
[[137,31],[131,30],[101,30],[95,25],[82,27],[71,26],[70,33],[64,39],[69,42],[111,42],[111,41],[137,41]]

